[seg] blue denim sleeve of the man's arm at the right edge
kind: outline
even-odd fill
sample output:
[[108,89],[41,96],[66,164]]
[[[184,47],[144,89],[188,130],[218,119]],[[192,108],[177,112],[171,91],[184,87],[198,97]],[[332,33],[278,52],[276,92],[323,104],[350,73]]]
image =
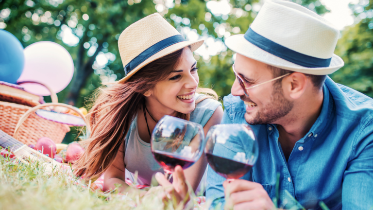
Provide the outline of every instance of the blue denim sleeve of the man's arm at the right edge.
[[342,185],[343,209],[373,208],[373,122],[369,122],[353,146]]

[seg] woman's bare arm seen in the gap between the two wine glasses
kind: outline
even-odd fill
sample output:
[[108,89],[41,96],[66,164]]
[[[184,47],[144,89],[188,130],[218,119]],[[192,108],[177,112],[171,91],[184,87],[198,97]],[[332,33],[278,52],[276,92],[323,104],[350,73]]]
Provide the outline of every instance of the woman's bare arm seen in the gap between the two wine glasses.
[[[222,116],[223,116],[223,108],[221,106],[218,106],[218,108],[216,108],[216,110],[214,111],[214,114],[212,114],[211,118],[208,120],[208,122],[203,127],[203,132],[205,136],[211,126],[220,124]],[[207,159],[203,152],[201,158],[196,163],[194,163],[193,166],[184,170],[186,180],[190,183],[194,192],[197,190],[197,187],[201,182],[206,166],[207,166]]]

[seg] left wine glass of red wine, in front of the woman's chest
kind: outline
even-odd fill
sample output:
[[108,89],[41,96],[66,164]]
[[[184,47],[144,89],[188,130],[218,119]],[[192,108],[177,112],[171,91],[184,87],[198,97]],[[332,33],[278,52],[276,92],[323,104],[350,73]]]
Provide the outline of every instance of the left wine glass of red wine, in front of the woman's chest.
[[151,139],[153,156],[168,179],[177,165],[183,169],[192,166],[201,157],[204,144],[200,124],[168,115],[155,125]]

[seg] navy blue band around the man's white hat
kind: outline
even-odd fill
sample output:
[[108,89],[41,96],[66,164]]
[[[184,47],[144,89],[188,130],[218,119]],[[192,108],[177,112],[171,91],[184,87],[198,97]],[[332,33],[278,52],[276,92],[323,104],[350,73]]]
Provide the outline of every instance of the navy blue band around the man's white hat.
[[247,30],[243,36],[250,43],[256,47],[271,53],[277,57],[280,57],[284,60],[287,60],[291,63],[307,67],[307,68],[320,68],[320,67],[329,67],[332,58],[322,59],[306,54],[298,53],[287,47],[284,47],[280,44],[277,44],[266,37],[257,34],[251,28]]

